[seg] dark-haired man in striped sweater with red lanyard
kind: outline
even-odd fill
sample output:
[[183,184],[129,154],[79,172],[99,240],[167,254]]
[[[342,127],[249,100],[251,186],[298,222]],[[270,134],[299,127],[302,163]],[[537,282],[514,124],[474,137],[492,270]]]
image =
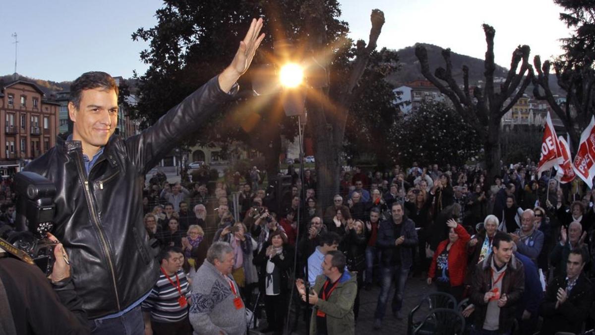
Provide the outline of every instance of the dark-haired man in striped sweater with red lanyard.
[[165,247],[158,257],[161,275],[141,308],[145,335],[190,334],[188,320],[190,286],[182,270],[184,255],[179,247]]

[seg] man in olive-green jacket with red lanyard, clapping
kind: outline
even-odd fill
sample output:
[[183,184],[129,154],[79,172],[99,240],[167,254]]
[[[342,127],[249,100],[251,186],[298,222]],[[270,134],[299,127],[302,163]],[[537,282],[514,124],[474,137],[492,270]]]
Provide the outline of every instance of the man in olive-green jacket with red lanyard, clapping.
[[[356,275],[345,271],[346,259],[342,252],[332,250],[324,256],[322,275],[309,293],[314,306],[310,321],[310,334],[355,334],[353,302],[358,291]],[[303,280],[296,281],[297,290],[306,301]]]

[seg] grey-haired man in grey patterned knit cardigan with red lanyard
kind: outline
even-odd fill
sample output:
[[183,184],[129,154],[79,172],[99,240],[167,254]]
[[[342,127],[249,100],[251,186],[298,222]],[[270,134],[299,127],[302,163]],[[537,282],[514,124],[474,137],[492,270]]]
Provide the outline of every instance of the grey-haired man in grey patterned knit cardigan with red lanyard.
[[246,308],[231,276],[233,249],[215,242],[192,278],[190,323],[195,335],[246,334]]

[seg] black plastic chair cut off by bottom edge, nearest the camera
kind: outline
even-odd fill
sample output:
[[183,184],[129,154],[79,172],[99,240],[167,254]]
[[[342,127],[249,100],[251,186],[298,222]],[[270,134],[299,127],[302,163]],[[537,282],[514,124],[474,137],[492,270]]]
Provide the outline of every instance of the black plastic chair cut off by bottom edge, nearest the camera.
[[425,320],[413,330],[413,335],[455,335],[462,334],[465,329],[463,315],[450,308],[433,309]]

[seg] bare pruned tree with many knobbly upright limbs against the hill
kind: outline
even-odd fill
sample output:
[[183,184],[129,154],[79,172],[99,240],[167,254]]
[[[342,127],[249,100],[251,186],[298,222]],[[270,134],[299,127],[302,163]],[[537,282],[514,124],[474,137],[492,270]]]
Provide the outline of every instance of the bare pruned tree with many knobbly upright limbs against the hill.
[[[430,72],[428,55],[424,46],[418,45],[415,48],[421,65],[421,73],[440,92],[452,101],[458,114],[473,126],[483,139],[483,148],[486,158],[488,177],[498,175],[501,170],[500,158],[500,121],[512,106],[522,97],[527,86],[533,78],[533,66],[529,63],[530,48],[528,45],[519,45],[512,52],[511,68],[506,75],[505,82],[500,84],[499,89],[494,86],[494,35],[496,30],[488,24],[483,24],[486,34],[486,58],[484,60],[484,77],[486,84],[484,88],[476,86],[469,90],[469,69],[463,66],[463,88],[452,76],[452,62],[450,61],[450,49],[442,51],[442,57],[446,69],[439,67],[434,74]],[[520,68],[519,68],[520,65]]]

